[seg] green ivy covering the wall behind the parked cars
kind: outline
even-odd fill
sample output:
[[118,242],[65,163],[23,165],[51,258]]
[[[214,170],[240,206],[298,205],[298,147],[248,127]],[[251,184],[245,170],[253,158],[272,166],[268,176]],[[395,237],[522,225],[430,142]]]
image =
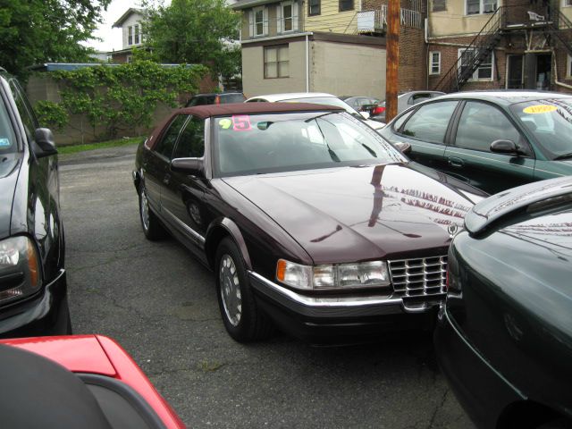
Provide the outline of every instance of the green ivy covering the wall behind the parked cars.
[[97,139],[114,139],[119,130],[149,127],[159,103],[177,107],[181,94],[195,93],[208,69],[202,65],[164,67],[136,59],[114,67],[94,66],[74,71],[51,71],[58,82],[60,103],[35,105],[40,123],[62,130],[73,127],[71,115],[84,115]]

